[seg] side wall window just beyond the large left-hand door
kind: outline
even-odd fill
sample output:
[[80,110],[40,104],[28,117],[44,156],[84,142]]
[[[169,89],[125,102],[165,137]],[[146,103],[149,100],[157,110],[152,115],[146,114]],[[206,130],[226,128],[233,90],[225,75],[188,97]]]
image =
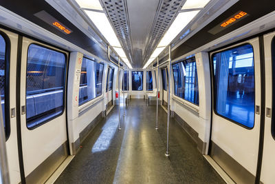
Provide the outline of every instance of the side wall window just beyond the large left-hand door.
[[79,105],[91,101],[102,94],[104,65],[83,58],[80,75]]

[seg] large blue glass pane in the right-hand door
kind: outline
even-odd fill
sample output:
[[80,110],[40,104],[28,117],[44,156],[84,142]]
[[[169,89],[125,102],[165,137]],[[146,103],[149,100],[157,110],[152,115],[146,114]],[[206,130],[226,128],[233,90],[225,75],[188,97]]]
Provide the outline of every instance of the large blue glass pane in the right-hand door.
[[214,110],[241,125],[254,127],[254,59],[252,45],[212,56]]

